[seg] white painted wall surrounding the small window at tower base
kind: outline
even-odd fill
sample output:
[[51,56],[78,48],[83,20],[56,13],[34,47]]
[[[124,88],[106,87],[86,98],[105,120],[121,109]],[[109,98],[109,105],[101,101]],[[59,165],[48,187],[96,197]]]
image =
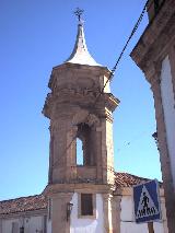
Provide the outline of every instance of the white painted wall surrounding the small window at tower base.
[[103,233],[104,232],[104,214],[102,195],[96,195],[96,219],[79,219],[78,218],[78,194],[74,194],[71,202],[73,209],[70,218],[71,233]]

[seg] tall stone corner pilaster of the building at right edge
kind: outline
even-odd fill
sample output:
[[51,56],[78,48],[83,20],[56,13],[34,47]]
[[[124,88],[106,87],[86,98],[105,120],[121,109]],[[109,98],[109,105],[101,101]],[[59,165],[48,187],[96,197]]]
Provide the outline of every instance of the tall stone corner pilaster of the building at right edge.
[[166,129],[164,121],[164,112],[162,106],[161,98],[161,86],[159,74],[154,74],[152,79],[152,91],[155,105],[155,117],[156,117],[156,127],[158,127],[158,140],[160,149],[160,160],[161,160],[161,170],[163,175],[163,186],[165,193],[165,203],[166,203],[166,215],[167,215],[167,226],[170,233],[175,231],[175,190],[173,186],[173,178],[171,173],[171,163],[167,150],[166,141]]

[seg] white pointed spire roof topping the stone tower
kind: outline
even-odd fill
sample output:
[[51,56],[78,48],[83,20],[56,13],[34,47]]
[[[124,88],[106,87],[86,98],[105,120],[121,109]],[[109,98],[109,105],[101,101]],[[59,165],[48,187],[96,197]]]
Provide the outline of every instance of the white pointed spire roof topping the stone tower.
[[74,48],[70,57],[65,61],[69,63],[79,63],[79,65],[89,65],[89,66],[101,66],[97,63],[93,57],[90,55],[84,37],[83,31],[83,22],[79,16],[79,24],[78,24],[78,35],[74,44]]

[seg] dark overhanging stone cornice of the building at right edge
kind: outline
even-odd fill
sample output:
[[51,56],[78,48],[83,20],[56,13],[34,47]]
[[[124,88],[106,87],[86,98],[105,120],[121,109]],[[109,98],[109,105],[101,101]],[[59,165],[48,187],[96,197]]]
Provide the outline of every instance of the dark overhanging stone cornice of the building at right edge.
[[166,0],[153,22],[145,28],[130,56],[147,74],[154,61],[161,61],[166,56],[174,39],[175,1]]

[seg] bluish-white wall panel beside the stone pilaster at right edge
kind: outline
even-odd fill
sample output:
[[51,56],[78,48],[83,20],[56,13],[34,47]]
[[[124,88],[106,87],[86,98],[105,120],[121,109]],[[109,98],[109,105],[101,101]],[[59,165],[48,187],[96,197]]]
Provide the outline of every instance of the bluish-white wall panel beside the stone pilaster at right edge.
[[161,95],[164,109],[167,148],[171,160],[173,183],[175,187],[175,100],[168,56],[162,62]]

